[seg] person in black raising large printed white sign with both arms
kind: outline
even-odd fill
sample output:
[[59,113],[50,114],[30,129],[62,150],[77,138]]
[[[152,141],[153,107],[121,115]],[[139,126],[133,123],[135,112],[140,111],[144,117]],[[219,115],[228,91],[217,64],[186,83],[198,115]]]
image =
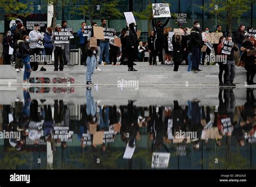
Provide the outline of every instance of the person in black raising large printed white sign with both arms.
[[161,64],[164,64],[164,59],[163,59],[163,49],[164,49],[164,28],[168,24],[170,20],[170,17],[166,20],[164,24],[162,24],[161,20],[158,20],[156,23],[156,19],[152,19],[152,26],[154,29],[154,37],[156,38],[154,40],[154,58],[158,56],[159,62]]

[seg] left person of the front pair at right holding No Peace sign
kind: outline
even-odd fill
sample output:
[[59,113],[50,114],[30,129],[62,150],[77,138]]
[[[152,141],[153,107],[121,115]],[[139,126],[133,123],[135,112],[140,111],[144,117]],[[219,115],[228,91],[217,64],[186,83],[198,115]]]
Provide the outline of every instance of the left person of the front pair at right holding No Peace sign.
[[[222,54],[221,51],[224,47],[224,41],[225,41],[225,37],[220,37],[219,40],[219,45],[218,45],[218,55],[224,56],[225,54]],[[227,68],[227,64],[224,63],[224,61],[218,62],[219,64],[219,86],[227,86],[227,76],[228,76],[228,68]],[[224,73],[224,83],[222,80],[222,74]]]

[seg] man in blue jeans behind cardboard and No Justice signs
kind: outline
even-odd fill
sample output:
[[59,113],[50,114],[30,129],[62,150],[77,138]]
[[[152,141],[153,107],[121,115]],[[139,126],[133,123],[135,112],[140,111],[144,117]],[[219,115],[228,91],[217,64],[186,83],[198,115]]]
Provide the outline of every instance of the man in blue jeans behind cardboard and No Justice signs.
[[[107,28],[106,26],[106,19],[102,19],[102,26],[103,28]],[[103,52],[105,53],[105,59],[106,59],[106,64],[109,65],[109,39],[103,39],[99,42],[99,47],[100,47],[100,55],[99,55],[99,64],[102,64],[102,56]]]

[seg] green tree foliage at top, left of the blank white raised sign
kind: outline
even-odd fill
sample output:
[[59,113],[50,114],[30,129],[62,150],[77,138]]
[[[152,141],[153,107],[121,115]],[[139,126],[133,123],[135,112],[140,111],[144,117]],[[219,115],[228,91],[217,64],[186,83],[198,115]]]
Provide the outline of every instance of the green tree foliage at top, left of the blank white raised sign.
[[88,17],[90,22],[92,23],[94,19],[100,18],[120,18],[123,17],[123,13],[117,9],[117,5],[122,0],[113,0],[113,1],[106,1],[104,0],[101,3],[98,3],[96,0],[83,0],[73,1],[74,4],[77,2],[82,3],[82,5],[78,7],[74,7],[71,13],[79,16]]

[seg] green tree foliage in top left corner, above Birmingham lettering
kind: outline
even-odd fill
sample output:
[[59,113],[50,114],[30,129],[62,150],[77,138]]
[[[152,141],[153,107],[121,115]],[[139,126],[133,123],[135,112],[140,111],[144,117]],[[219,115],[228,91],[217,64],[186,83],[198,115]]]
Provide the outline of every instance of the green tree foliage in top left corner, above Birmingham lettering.
[[27,17],[33,11],[31,2],[22,3],[17,0],[0,0],[0,8],[2,8],[8,20]]

